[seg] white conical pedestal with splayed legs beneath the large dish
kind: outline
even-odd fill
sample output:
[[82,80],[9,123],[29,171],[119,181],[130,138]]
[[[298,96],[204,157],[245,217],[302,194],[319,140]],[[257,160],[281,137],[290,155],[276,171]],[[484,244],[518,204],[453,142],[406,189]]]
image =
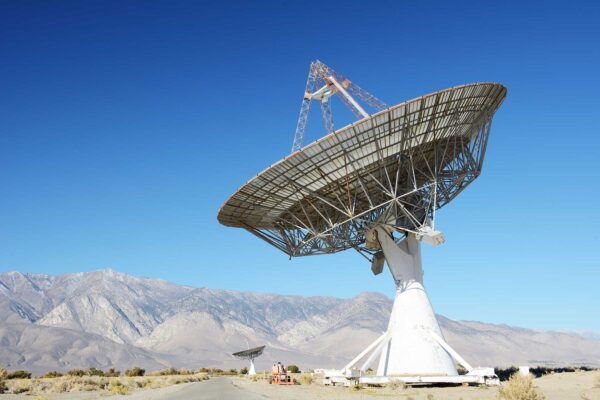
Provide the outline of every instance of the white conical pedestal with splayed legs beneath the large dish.
[[380,377],[457,376],[455,362],[472,370],[443,339],[423,287],[420,241],[408,233],[396,244],[385,229],[374,229],[396,283],[396,297],[387,332],[346,365],[344,373],[365,371],[377,357]]

